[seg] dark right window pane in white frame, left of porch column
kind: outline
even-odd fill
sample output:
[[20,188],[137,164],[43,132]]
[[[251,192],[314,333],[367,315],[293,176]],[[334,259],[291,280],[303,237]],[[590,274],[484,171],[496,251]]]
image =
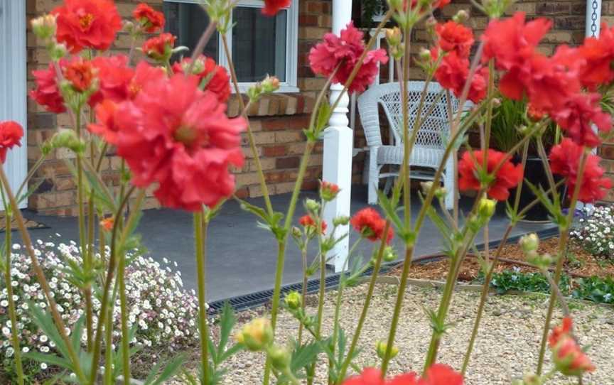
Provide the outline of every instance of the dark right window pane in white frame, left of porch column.
[[259,82],[266,75],[286,81],[288,11],[264,16],[260,8],[239,6],[232,13],[232,60],[239,82]]

